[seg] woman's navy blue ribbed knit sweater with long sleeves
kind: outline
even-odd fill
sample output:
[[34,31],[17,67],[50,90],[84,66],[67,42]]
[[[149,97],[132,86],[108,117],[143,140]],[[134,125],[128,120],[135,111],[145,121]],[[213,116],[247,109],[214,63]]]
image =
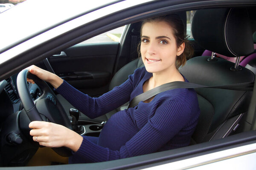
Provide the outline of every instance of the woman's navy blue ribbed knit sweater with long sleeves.
[[[96,118],[143,93],[143,84],[151,77],[145,67],[136,69],[122,85],[99,98],[85,95],[66,81],[56,90],[79,111]],[[99,138],[83,136],[70,163],[109,161],[187,146],[199,114],[194,89],[161,92],[150,103],[141,101],[112,115]]]

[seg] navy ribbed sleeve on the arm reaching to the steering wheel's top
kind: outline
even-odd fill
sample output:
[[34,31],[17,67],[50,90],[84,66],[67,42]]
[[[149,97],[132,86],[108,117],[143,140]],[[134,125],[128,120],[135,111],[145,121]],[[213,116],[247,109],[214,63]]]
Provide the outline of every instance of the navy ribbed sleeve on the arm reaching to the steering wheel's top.
[[141,69],[135,70],[133,75],[129,75],[127,81],[120,86],[114,87],[111,91],[99,98],[92,98],[80,92],[66,81],[64,81],[56,91],[80,112],[84,113],[89,118],[96,118],[129,101],[131,92],[134,89],[134,84],[136,84],[134,81],[138,81],[136,75],[140,75],[141,72]]

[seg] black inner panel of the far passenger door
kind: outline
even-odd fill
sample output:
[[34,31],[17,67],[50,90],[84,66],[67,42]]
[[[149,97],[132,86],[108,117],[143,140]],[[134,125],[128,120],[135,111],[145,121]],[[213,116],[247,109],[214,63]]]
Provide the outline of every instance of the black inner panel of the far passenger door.
[[77,44],[49,58],[55,74],[90,96],[108,92],[118,42]]

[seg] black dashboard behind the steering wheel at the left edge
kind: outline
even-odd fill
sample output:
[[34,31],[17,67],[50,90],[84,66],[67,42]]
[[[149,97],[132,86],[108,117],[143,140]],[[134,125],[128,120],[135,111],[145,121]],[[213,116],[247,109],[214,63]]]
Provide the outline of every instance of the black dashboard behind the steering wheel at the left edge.
[[[17,92],[17,75],[0,81],[0,165],[23,166],[35,154],[38,146],[29,135],[30,120]],[[33,101],[42,92],[36,84],[27,83]]]

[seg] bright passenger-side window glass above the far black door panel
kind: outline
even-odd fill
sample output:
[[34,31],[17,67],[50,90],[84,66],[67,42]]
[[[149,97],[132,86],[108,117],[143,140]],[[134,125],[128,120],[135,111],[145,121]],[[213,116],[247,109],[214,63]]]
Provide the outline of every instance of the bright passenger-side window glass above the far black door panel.
[[125,26],[121,26],[116,29],[112,29],[108,32],[104,32],[100,35],[92,37],[88,40],[81,42],[80,44],[87,44],[87,43],[106,43],[106,42],[119,42],[120,38],[124,32]]

